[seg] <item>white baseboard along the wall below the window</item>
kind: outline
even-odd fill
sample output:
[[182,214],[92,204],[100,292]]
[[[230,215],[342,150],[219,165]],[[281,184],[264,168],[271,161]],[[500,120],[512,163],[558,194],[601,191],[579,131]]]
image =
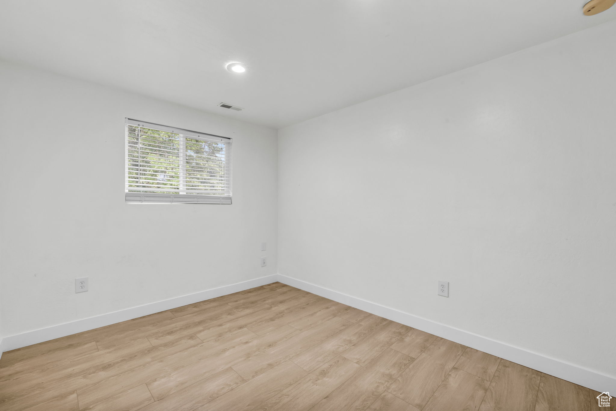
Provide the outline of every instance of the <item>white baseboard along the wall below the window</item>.
[[267,275],[266,277],[261,277],[259,279],[225,285],[223,287],[213,288],[211,290],[169,298],[163,301],[156,301],[155,303],[109,312],[108,314],[96,315],[95,317],[66,322],[64,324],[52,325],[51,327],[40,328],[39,330],[29,331],[17,335],[5,336],[0,341],[0,352],[42,343],[43,341],[54,340],[55,338],[81,333],[87,330],[94,330],[94,328],[104,327],[105,325],[116,324],[126,320],[132,320],[134,318],[143,317],[144,315],[154,314],[155,312],[161,312],[168,309],[185,306],[187,304],[198,303],[199,301],[204,301],[210,298],[237,293],[238,291],[248,290],[249,288],[273,283],[277,280],[278,277],[276,274]]

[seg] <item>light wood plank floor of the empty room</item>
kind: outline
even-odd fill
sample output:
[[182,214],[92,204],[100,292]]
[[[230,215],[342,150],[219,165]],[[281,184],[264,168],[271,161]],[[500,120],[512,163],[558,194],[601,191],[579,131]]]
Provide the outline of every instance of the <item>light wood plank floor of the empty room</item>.
[[598,394],[281,283],[0,359],[3,411],[591,411]]

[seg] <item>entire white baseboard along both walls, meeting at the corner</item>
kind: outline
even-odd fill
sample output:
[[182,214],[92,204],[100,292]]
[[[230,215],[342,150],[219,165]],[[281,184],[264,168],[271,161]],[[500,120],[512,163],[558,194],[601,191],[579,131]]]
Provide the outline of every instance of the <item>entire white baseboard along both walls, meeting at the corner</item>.
[[5,336],[0,340],[0,356],[4,351],[21,348],[32,344],[42,343],[43,341],[54,340],[67,335],[80,333],[94,328],[104,327],[105,325],[116,324],[118,322],[143,317],[144,315],[154,314],[155,312],[165,311],[172,308],[185,306],[187,304],[198,303],[206,299],[216,298],[227,294],[237,293],[238,291],[248,290],[249,288],[261,285],[282,282],[291,287],[333,299],[339,303],[379,315],[386,319],[417,328],[447,340],[469,346],[479,351],[487,352],[493,356],[501,357],[506,360],[533,368],[549,375],[557,376],[563,380],[571,381],[578,385],[592,388],[599,393],[609,391],[616,393],[616,378],[603,375],[587,368],[579,367],[568,362],[553,359],[535,352],[517,348],[500,341],[490,340],[490,338],[469,333],[449,325],[440,324],[418,317],[407,312],[402,312],[394,308],[382,306],[381,304],[371,303],[365,299],[353,297],[330,290],[329,288],[305,282],[302,280],[287,277],[286,275],[268,275],[259,279],[248,280],[245,282],[225,285],[224,287],[213,288],[211,290],[200,291],[198,293],[170,298],[155,303],[144,304],[142,306],[131,307],[108,314],[97,315],[86,319],[67,322],[64,324],[53,325],[52,327],[41,328],[30,332],[17,335]]

